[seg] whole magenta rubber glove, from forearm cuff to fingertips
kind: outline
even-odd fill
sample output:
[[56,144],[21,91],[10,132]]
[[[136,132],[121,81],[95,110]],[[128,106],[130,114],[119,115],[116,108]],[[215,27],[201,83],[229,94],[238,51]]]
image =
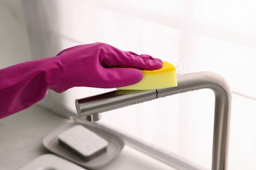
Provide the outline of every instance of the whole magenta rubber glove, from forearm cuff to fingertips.
[[128,86],[142,79],[139,69],[161,67],[160,59],[96,42],[68,48],[52,58],[0,69],[0,118],[37,103],[49,89],[61,93],[75,86]]

